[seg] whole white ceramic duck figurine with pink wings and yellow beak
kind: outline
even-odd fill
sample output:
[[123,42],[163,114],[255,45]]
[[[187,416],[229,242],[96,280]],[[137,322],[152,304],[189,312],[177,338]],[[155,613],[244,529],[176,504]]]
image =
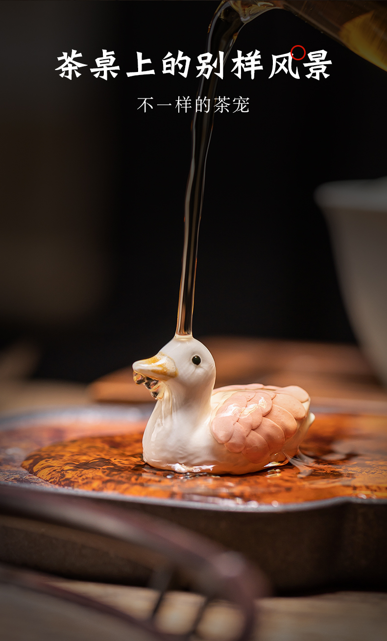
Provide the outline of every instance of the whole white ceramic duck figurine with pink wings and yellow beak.
[[143,438],[144,460],[174,472],[245,474],[295,456],[315,419],[301,387],[260,383],[213,389],[215,362],[192,336],[175,336],[133,363],[157,403]]

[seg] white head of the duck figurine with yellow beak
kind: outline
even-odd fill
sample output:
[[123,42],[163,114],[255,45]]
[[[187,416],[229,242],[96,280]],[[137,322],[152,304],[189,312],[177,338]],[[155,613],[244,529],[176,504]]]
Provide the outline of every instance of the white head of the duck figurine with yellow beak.
[[133,363],[135,382],[161,400],[165,388],[182,402],[209,400],[215,383],[215,362],[210,351],[192,336],[175,336],[156,356]]

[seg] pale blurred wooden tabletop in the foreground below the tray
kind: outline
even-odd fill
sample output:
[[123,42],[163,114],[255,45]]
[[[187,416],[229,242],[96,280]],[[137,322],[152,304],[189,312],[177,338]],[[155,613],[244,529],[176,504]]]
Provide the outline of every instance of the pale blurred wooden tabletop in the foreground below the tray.
[[[157,593],[149,588],[58,581],[67,589],[90,595],[124,612],[145,618]],[[169,592],[158,613],[161,627],[183,633],[202,603],[198,594]],[[254,641],[381,641],[387,635],[387,594],[333,592],[304,597],[261,599]],[[213,604],[202,620],[201,634],[226,641],[238,624],[238,612],[227,603]]]

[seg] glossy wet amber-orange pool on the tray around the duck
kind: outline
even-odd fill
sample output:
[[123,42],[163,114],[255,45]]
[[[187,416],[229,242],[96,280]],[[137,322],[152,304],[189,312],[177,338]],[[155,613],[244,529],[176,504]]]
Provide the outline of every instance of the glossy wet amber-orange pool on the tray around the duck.
[[[115,434],[107,433],[114,427]],[[387,417],[318,415],[297,460],[243,476],[156,470],[142,459],[144,426],[131,426],[129,433],[119,427],[96,424],[90,426],[94,435],[53,443],[45,426],[39,444],[51,444],[29,454],[22,467],[62,487],[202,503],[254,507],[337,496],[387,498]]]

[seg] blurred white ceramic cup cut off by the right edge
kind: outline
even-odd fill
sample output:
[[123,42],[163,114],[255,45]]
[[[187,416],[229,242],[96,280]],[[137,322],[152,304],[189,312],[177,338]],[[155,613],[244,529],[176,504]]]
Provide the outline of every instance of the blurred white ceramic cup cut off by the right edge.
[[354,332],[387,385],[387,178],[325,183],[315,201],[331,231]]

